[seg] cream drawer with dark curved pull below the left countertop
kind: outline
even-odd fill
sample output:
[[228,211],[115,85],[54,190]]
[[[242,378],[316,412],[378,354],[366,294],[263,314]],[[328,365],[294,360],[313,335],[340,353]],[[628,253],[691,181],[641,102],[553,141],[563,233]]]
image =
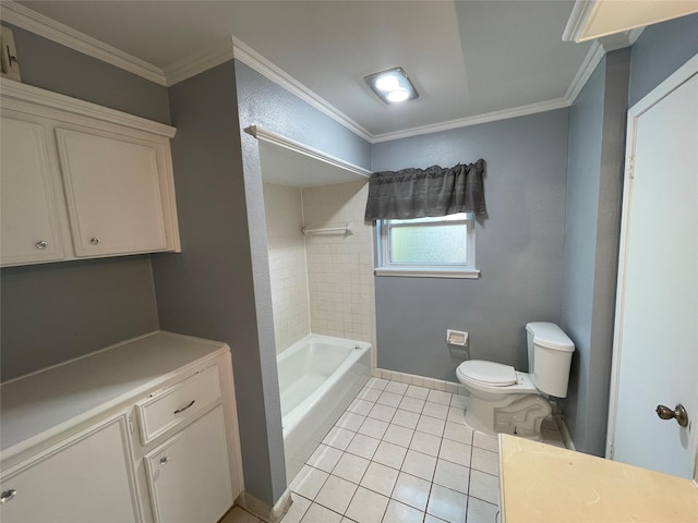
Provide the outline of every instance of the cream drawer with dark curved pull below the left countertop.
[[220,398],[218,367],[213,366],[161,393],[136,403],[141,442],[147,445]]

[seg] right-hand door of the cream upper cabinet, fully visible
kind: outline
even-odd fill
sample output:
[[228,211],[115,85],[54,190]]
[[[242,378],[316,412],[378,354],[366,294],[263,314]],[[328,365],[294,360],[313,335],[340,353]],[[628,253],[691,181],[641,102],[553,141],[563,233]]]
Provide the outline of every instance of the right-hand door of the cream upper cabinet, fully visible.
[[160,144],[56,129],[76,256],[167,250]]

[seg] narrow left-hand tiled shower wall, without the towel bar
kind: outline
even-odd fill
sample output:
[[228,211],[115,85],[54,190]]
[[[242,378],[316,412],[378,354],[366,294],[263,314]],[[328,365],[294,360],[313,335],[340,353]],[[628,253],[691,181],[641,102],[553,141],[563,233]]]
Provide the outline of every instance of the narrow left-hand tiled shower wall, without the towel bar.
[[301,190],[264,184],[277,353],[310,333]]

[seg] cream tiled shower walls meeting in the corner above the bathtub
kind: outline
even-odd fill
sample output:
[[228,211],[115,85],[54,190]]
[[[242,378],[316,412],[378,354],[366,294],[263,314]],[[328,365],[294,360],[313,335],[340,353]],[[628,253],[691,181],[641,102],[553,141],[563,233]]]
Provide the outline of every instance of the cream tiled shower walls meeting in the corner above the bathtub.
[[[264,184],[277,352],[305,335],[375,346],[373,231],[363,221],[366,181],[286,187]],[[353,234],[310,229],[352,223]]]

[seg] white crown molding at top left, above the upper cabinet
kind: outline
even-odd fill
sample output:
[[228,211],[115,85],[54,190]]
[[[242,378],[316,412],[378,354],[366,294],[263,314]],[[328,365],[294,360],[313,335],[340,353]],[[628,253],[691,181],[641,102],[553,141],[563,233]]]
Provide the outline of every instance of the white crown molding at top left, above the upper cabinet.
[[161,69],[16,2],[2,2],[2,20],[151,82],[166,85]]

